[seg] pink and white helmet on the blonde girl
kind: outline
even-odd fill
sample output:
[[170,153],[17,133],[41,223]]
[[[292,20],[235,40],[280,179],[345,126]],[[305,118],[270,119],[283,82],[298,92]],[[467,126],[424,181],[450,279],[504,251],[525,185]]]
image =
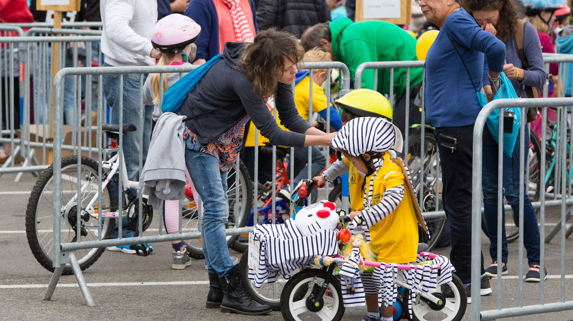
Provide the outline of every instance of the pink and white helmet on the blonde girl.
[[174,13],[160,19],[151,36],[151,44],[164,53],[181,53],[199,38],[201,26],[186,15]]

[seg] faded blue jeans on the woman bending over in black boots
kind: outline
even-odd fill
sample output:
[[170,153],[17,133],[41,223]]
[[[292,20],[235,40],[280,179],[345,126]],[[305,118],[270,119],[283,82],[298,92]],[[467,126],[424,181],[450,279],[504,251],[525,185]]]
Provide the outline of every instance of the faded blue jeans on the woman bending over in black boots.
[[203,201],[201,245],[207,272],[217,273],[219,277],[227,276],[233,268],[225,236],[229,218],[227,172],[221,171],[219,160],[214,156],[189,148],[185,149],[185,163]]

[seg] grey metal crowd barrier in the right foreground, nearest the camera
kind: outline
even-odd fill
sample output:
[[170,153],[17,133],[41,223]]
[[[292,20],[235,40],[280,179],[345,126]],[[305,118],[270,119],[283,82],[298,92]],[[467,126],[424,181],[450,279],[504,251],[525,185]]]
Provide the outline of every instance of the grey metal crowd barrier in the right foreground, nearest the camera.
[[[573,146],[573,135],[571,135],[571,131],[567,130],[567,107],[563,106],[570,106],[573,105],[573,98],[545,98],[545,99],[499,99],[494,100],[491,103],[485,105],[484,108],[481,109],[480,113],[477,116],[476,123],[474,126],[473,131],[473,163],[474,164],[481,164],[482,163],[482,137],[484,132],[484,125],[485,121],[488,118],[488,115],[494,109],[500,108],[523,108],[521,112],[521,125],[520,126],[520,136],[523,137],[525,134],[525,109],[528,107],[539,107],[543,108],[541,121],[541,164],[540,164],[540,175],[541,177],[545,177],[546,174],[546,165],[545,165],[545,146],[547,136],[547,108],[548,107],[557,107],[560,111],[558,122],[560,126],[560,135],[558,144],[556,145],[556,159],[561,159],[562,161],[559,164],[560,167],[560,177],[558,181],[555,181],[556,186],[560,186],[561,191],[566,191],[566,193],[555,193],[556,199],[552,201],[546,201],[545,197],[540,197],[539,207],[540,207],[540,240],[544,239],[544,226],[545,226],[545,207],[547,206],[560,206],[561,207],[561,221],[566,221],[566,213],[570,212],[571,205],[573,205],[573,197],[571,195],[571,163],[567,164],[566,159],[573,159],[573,149],[569,148],[569,146]],[[562,114],[562,115],[561,115]],[[503,122],[500,122],[499,127],[499,160],[498,160],[498,167],[501,168],[502,166],[502,159],[503,159]],[[520,139],[519,147],[516,145],[515,148],[520,148],[520,169],[519,169],[519,182],[520,186],[524,186],[525,178],[524,178],[524,166],[527,163],[527,160],[524,159],[524,140]],[[503,202],[503,190],[500,187],[501,179],[498,182],[498,202],[501,204]],[[521,187],[520,187],[521,190]],[[541,186],[540,190],[545,190],[545,180],[541,179]],[[520,193],[520,206],[519,206],[519,221],[523,222],[524,216],[524,195]],[[472,182],[472,257],[479,257],[481,254],[481,204],[482,204],[482,167],[481,166],[474,166],[473,167],[473,182]],[[497,230],[497,239],[501,240],[501,207],[498,212],[498,230]],[[497,318],[507,318],[510,316],[522,316],[522,315],[531,315],[531,314],[541,314],[547,312],[556,312],[556,311],[566,311],[566,310],[573,310],[573,301],[566,301],[565,300],[565,267],[566,267],[566,230],[562,229],[561,233],[561,244],[560,244],[560,302],[555,303],[545,303],[545,293],[544,293],[544,278],[540,278],[540,292],[539,292],[539,304],[531,305],[531,306],[524,306],[524,293],[523,293],[523,278],[524,278],[524,271],[523,271],[523,238],[527,237],[524,236],[523,224],[519,224],[519,288],[518,288],[518,295],[519,295],[519,302],[517,303],[517,307],[511,308],[503,308],[502,307],[502,287],[501,284],[503,280],[498,277],[497,278],[497,309],[496,310],[489,310],[489,311],[480,311],[481,310],[481,301],[480,301],[480,288],[479,287],[472,287],[472,310],[471,316],[472,320],[494,320]],[[497,243],[498,248],[498,261],[501,261],[501,241]],[[552,265],[556,268],[556,265]],[[501,268],[499,265],[498,268]],[[544,242],[540,242],[540,273],[543,275],[543,271],[545,268],[545,245]],[[501,270],[499,270],[500,272]],[[480,264],[473,264],[472,265],[472,284],[480,284]]]

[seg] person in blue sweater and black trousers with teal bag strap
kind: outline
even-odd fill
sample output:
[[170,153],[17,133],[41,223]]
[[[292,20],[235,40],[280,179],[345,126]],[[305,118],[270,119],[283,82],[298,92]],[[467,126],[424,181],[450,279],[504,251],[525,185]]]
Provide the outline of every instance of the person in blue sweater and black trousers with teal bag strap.
[[[466,284],[471,302],[472,140],[473,124],[481,109],[476,91],[484,87],[492,96],[490,84],[499,83],[505,46],[481,30],[457,1],[417,2],[426,19],[440,28],[426,56],[424,108],[427,122],[435,127],[442,163],[442,198],[452,228],[450,260]],[[489,71],[484,66],[489,66]],[[483,274],[483,257],[481,260]],[[478,286],[482,295],[492,292],[487,277]]]

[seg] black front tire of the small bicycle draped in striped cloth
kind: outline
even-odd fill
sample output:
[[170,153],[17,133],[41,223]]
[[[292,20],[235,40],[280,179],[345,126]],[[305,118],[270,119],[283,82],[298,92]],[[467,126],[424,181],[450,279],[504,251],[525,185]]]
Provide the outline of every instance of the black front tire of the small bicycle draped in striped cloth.
[[[327,277],[327,273],[328,272],[324,271],[323,269],[304,269],[303,271],[300,271],[299,273],[296,273],[295,275],[293,275],[291,277],[291,279],[288,280],[288,282],[286,282],[285,287],[282,289],[281,306],[280,306],[282,318],[284,318],[287,321],[294,321],[295,320],[292,317],[292,314],[290,313],[290,310],[289,310],[289,304],[290,304],[289,297],[291,296],[291,292],[295,288],[296,284],[299,283],[300,281],[303,281],[305,279],[309,279],[312,277],[316,277],[317,279],[325,280]],[[342,300],[342,286],[340,285],[340,281],[337,280],[336,277],[333,275],[331,275],[329,284],[332,284],[332,286],[335,288],[336,295],[338,295],[339,302],[340,302],[338,309],[336,311],[335,318],[333,318],[332,321],[339,321],[344,316],[344,311],[346,310],[344,308],[344,303]],[[332,295],[334,295],[334,293],[332,293]]]

